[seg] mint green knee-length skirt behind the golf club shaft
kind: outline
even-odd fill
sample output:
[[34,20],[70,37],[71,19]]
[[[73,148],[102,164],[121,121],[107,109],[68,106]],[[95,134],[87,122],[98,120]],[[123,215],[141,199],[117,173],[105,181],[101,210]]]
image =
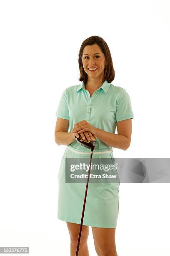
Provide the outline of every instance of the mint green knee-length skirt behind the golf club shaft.
[[[95,152],[97,154],[94,154]],[[66,158],[86,158],[89,159],[89,164],[90,149],[77,150],[68,145],[62,156],[58,174],[57,218],[66,222],[80,224],[86,183],[65,182]],[[94,150],[92,159],[94,158],[111,158],[114,164],[112,148]],[[88,184],[83,225],[98,228],[116,228],[119,213],[119,185],[119,178],[117,183]]]

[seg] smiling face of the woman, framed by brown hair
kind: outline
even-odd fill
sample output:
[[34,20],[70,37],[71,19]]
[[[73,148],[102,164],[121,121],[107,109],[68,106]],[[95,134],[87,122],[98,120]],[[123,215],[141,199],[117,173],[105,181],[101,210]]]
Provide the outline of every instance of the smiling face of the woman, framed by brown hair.
[[[103,77],[105,69],[105,55],[98,44],[87,45],[82,52],[82,65],[88,78]],[[97,68],[95,71],[90,71],[89,68]]]

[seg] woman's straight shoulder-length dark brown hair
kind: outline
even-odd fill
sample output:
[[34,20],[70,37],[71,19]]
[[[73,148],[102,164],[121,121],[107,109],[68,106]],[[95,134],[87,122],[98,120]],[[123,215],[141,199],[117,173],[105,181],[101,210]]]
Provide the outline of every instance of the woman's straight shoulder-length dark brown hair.
[[98,46],[100,46],[101,51],[105,55],[107,65],[105,66],[105,69],[104,69],[103,78],[104,78],[104,81],[107,80],[107,82],[111,83],[115,78],[115,70],[113,68],[112,56],[110,54],[108,45],[100,36],[90,36],[87,39],[85,39],[85,41],[82,42],[82,45],[79,51],[79,56],[78,56],[78,64],[80,69],[79,81],[82,81],[85,84],[87,83],[87,74],[82,65],[82,52],[86,45],[93,45],[93,44],[98,44]]

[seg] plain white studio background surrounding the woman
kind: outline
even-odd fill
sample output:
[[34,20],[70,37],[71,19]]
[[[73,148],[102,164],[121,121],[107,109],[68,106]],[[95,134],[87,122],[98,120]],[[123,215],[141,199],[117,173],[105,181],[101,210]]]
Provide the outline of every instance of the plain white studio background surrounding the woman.
[[[115,86],[130,95],[134,119],[125,158],[170,157],[168,0],[0,2],[0,247],[31,256],[70,255],[57,219],[65,146],[54,140],[66,87],[80,84],[78,52],[89,36],[108,44]],[[118,256],[169,256],[169,184],[120,184]],[[92,230],[90,256],[95,252]]]

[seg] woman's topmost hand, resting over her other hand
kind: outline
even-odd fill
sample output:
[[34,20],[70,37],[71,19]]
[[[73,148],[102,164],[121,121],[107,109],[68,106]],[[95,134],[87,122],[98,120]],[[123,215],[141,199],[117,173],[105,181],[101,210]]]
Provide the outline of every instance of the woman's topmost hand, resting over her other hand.
[[82,120],[78,123],[75,123],[74,128],[71,132],[73,133],[84,133],[85,131],[90,131],[93,135],[96,135],[96,127],[92,126],[90,123],[88,123],[86,120]]

